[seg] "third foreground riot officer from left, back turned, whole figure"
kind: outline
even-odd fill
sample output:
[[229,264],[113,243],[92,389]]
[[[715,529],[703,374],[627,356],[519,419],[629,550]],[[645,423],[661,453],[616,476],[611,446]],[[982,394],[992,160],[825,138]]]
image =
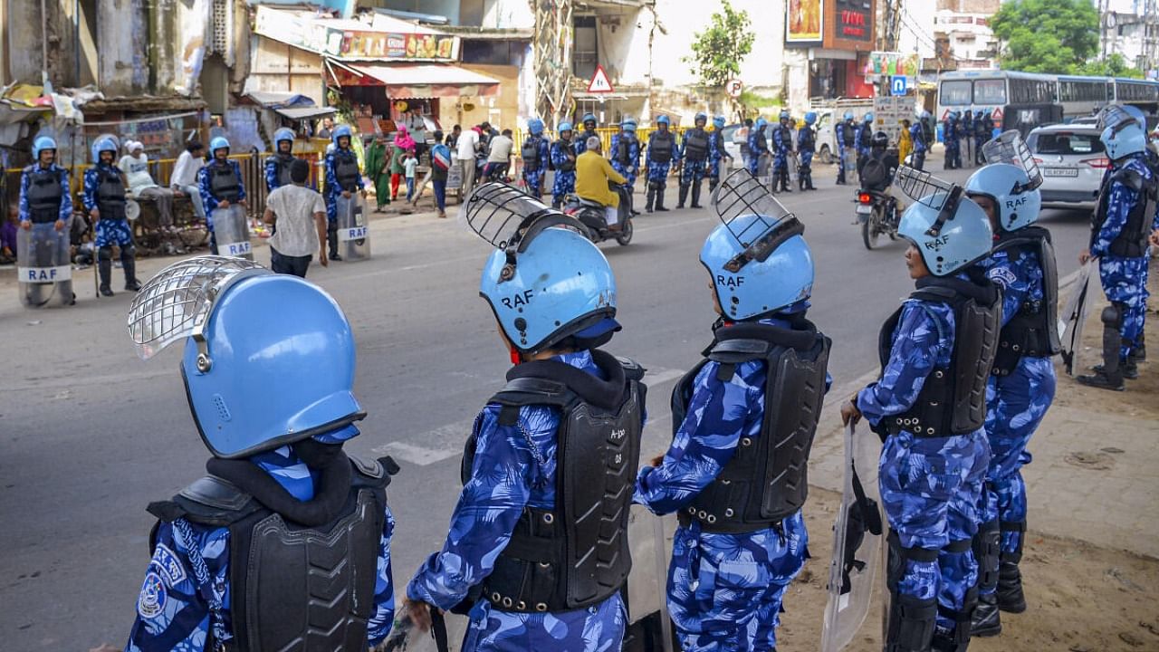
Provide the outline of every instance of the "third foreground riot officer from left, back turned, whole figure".
[[700,252],[713,341],[673,390],[672,444],[640,470],[635,500],[679,520],[668,604],[680,650],[774,650],[807,557],[801,507],[830,340],[806,318],[801,223],[746,171],[717,188],[716,210]]

